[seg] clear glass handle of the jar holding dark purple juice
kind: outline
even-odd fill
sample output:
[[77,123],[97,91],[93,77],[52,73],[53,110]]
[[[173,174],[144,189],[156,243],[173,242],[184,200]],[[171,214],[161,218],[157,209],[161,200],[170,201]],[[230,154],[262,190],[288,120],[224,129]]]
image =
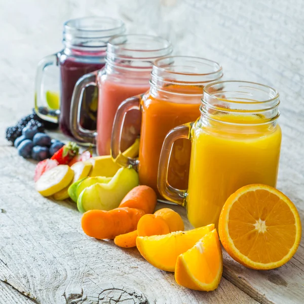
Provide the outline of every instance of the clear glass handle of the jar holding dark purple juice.
[[50,65],[59,65],[59,56],[60,53],[49,55],[43,58],[37,65],[36,69],[36,78],[35,78],[35,112],[36,114],[49,122],[58,123],[58,117],[60,110],[56,109],[56,111],[50,115],[50,109],[43,107],[44,111],[41,110],[41,106],[43,106],[43,74],[46,67]]

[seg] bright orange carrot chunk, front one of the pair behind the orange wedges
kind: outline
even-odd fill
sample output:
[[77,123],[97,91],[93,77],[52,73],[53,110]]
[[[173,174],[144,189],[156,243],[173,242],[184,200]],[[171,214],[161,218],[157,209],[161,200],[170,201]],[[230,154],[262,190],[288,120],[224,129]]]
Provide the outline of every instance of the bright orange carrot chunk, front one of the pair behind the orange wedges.
[[139,237],[159,236],[170,233],[167,222],[160,216],[145,214],[137,224]]

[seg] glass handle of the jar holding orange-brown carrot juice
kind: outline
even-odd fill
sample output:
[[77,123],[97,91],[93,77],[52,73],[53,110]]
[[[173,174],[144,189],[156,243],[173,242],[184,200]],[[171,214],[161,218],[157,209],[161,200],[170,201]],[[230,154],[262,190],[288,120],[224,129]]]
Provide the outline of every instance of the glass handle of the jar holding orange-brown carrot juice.
[[138,110],[140,111],[140,102],[143,94],[130,97],[123,101],[115,115],[115,119],[113,122],[112,128],[112,136],[111,136],[111,157],[115,162],[117,162],[122,167],[128,167],[131,165],[135,170],[139,165],[139,161],[135,158],[130,158],[125,156],[121,151],[121,137],[124,126],[124,121],[127,115],[127,112],[130,110]]

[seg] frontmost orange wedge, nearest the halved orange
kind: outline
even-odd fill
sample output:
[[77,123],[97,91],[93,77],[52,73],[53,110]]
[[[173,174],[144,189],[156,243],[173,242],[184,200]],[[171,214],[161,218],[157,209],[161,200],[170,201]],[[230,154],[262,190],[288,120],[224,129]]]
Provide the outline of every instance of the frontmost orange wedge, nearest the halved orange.
[[202,291],[217,288],[223,272],[223,257],[216,229],[177,257],[177,284]]

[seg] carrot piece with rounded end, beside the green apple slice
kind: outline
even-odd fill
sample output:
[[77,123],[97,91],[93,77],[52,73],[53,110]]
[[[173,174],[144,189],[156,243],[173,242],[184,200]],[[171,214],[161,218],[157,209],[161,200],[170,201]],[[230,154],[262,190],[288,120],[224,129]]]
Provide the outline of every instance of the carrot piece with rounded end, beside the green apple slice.
[[157,203],[155,191],[144,185],[133,188],[122,200],[120,207],[130,207],[153,213]]

